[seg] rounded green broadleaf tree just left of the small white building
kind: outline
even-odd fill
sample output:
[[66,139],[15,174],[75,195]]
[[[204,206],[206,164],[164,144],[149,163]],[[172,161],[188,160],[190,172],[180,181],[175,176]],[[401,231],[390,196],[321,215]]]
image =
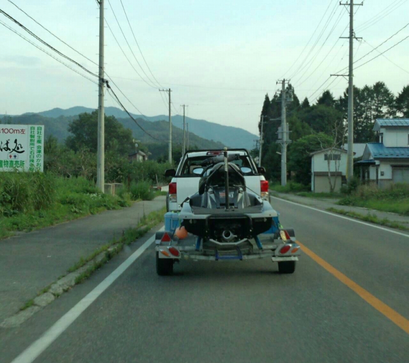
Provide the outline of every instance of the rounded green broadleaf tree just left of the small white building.
[[295,141],[288,153],[288,166],[295,173],[297,182],[308,185],[311,182],[311,156],[323,146],[330,146],[333,138],[322,132],[307,135]]

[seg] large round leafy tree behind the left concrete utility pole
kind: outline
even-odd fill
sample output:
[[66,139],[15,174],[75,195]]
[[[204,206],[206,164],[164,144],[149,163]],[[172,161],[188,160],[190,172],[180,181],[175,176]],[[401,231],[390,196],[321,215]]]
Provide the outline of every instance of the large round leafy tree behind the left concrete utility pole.
[[[72,135],[66,138],[66,146],[78,152],[87,149],[96,153],[98,148],[98,111],[81,113],[70,122],[68,130]],[[105,115],[105,151],[128,155],[134,151],[132,132],[125,129],[114,116]]]

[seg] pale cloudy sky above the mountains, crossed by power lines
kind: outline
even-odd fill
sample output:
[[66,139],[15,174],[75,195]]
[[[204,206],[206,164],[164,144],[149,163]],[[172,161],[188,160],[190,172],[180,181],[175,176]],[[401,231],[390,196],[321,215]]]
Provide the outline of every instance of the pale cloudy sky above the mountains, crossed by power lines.
[[[13,0],[13,3],[98,63],[99,9],[95,0]],[[112,85],[130,112],[167,114],[167,101],[163,99],[167,93],[161,95],[158,89],[171,88],[172,114],[181,114],[180,105],[185,104],[189,117],[258,134],[264,96],[274,95],[280,87],[276,84],[279,79],[290,78],[299,99],[307,96],[312,103],[325,89],[337,97],[348,86],[343,77],[325,82],[330,74],[348,66],[348,39],[339,36],[348,36],[349,15],[344,6],[339,6],[339,0],[122,0],[122,3],[146,63],[158,82],[141,56],[121,1],[105,0],[105,19],[129,59],[128,62],[105,27],[105,70],[132,102],[133,105]],[[98,72],[96,64],[54,38],[8,0],[0,0],[0,9],[64,55]],[[363,38],[354,42],[354,59],[358,60],[373,50],[371,46],[378,46],[407,24],[409,1],[364,0],[363,6],[355,7],[355,11],[355,34]],[[0,21],[46,49],[3,14]],[[378,50],[383,52],[408,35],[409,26]],[[0,114],[40,112],[55,107],[98,107],[96,84],[1,23],[0,44]],[[48,48],[47,52],[62,60]],[[355,65],[378,54],[373,51]],[[380,56],[357,68],[354,84],[362,87],[383,81],[394,94],[408,85],[409,38],[385,56],[388,59]],[[73,63],[64,62],[97,81]],[[105,105],[118,107],[109,94],[105,96]]]

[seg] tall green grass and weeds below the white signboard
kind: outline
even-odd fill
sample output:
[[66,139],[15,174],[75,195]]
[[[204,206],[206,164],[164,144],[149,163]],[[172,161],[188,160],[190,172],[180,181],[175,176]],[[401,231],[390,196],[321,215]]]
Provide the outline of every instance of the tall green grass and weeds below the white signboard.
[[[107,209],[120,209],[131,204],[129,195],[121,198],[100,193],[94,183],[84,178],[67,179],[47,176],[46,179],[52,189],[50,192],[41,187],[32,187],[30,190],[33,185],[28,184],[32,182],[30,174],[25,177],[27,180],[16,176],[15,186],[8,190],[5,188],[4,176],[2,178],[0,179],[0,199],[3,200],[3,203],[0,203],[0,238],[11,236],[16,231],[31,231]],[[12,180],[10,176],[7,178]],[[41,178],[39,179],[41,181]],[[48,193],[49,196],[34,198],[31,195],[35,192]],[[27,206],[20,202],[21,193],[27,197]]]

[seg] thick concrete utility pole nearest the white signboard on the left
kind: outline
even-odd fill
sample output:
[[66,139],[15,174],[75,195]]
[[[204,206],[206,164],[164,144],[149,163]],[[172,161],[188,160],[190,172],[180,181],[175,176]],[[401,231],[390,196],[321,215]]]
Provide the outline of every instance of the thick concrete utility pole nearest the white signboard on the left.
[[98,82],[98,157],[97,188],[105,191],[104,127],[104,0],[99,0],[99,82]]

